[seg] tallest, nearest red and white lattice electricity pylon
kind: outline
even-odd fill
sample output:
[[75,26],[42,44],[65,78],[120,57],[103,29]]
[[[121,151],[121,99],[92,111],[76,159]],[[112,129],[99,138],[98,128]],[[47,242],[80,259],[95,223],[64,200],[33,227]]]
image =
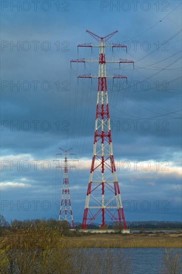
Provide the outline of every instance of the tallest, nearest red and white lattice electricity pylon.
[[113,222],[119,223],[121,227],[123,220],[123,227],[124,229],[127,229],[113,156],[109,104],[107,96],[107,78],[127,79],[127,77],[117,74],[109,77],[106,76],[106,63],[134,64],[134,61],[126,59],[119,59],[118,61],[106,61],[106,47],[112,47],[112,49],[115,47],[127,48],[126,45],[106,43],[106,41],[110,39],[115,33],[117,33],[118,30],[112,32],[105,37],[100,37],[89,30],[86,31],[91,36],[93,36],[99,42],[99,44],[79,44],[78,47],[99,47],[100,53],[99,60],[71,60],[71,63],[99,63],[98,76],[92,76],[92,74],[78,76],[78,78],[98,78],[93,158],[86,195],[85,209],[83,214],[82,229],[87,229],[88,226],[100,214],[102,215],[102,227],[105,226],[106,218],[109,217],[109,219],[111,219]]

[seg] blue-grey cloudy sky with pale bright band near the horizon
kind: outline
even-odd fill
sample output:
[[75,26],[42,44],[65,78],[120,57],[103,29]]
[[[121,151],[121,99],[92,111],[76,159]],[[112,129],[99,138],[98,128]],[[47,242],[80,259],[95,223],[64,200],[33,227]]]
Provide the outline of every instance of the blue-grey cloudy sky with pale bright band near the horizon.
[[[59,147],[76,153],[70,170],[75,221],[82,221],[92,159],[98,48],[110,48],[107,74],[113,151],[125,210],[132,220],[181,220],[181,1],[1,1],[1,214],[9,221],[58,218],[63,172]],[[98,222],[100,220],[98,219]]]

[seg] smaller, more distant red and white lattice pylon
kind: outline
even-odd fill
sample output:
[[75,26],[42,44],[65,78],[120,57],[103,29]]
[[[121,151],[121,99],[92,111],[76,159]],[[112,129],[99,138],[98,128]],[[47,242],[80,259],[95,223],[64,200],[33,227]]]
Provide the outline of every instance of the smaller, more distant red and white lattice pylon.
[[[71,209],[71,201],[70,201],[70,194],[69,194],[69,179],[68,179],[68,170],[75,166],[70,165],[70,162],[78,162],[78,160],[68,159],[67,152],[70,151],[72,148],[64,150],[60,148],[63,153],[56,153],[56,168],[61,168],[64,170],[64,178],[63,178],[63,187],[62,187],[62,199],[61,199],[61,207],[59,211],[59,221],[66,220],[67,222],[71,223],[72,228],[75,229],[74,221],[73,221],[73,214]],[[64,160],[57,159],[57,155],[64,155]],[[70,153],[69,156],[76,155],[75,153]],[[61,164],[60,164],[61,162]]]

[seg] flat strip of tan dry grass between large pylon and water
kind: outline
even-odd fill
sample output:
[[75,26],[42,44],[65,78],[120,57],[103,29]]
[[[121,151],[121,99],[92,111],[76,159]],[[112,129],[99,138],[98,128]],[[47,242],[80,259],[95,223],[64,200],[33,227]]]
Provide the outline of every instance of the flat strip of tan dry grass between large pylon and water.
[[[67,237],[66,237],[67,238]],[[85,235],[70,237],[71,248],[182,248],[182,233]]]

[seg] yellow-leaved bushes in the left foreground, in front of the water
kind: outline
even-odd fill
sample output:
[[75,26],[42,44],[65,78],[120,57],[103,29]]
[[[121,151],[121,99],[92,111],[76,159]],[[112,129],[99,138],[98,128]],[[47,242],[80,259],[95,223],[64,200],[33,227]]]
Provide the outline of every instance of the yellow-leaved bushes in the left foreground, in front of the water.
[[131,273],[129,257],[109,250],[71,249],[59,228],[41,225],[17,228],[1,236],[0,274],[112,274]]

